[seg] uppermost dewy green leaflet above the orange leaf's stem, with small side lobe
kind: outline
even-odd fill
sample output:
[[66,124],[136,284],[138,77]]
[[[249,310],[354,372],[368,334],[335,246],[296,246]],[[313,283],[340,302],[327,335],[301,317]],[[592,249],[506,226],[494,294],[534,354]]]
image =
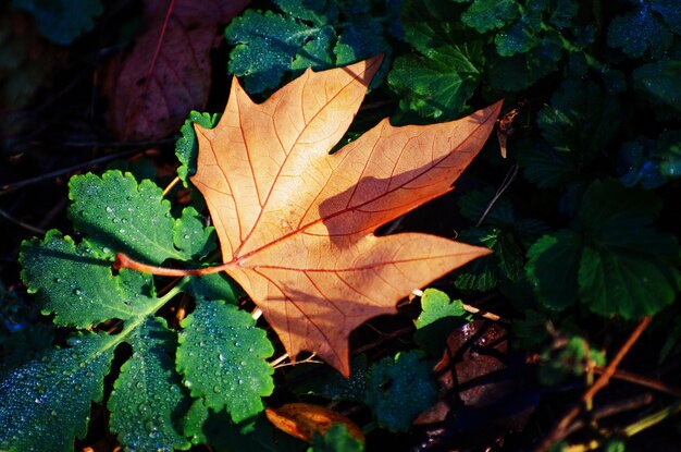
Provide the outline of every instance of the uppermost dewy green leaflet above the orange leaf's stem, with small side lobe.
[[[109,256],[115,251],[151,264],[170,258],[188,260],[196,251],[193,246],[182,248],[193,243],[182,237],[209,234],[200,231],[202,228],[196,222],[175,221],[170,201],[163,199],[163,191],[151,181],[138,185],[129,173],[108,171],[101,178],[95,174],[74,176],[69,188],[73,200],[69,215],[74,227],[88,234]],[[183,219],[189,217],[191,211],[188,217],[183,215]],[[199,231],[194,231],[195,228]],[[177,233],[177,229],[183,229],[183,233]],[[182,244],[174,239],[181,239]]]

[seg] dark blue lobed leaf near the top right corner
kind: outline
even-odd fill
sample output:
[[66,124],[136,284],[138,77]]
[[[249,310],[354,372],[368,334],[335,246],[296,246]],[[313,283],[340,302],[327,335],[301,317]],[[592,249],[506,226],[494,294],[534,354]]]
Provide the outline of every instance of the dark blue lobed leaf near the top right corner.
[[635,11],[612,19],[608,27],[608,46],[622,49],[631,58],[643,57],[648,49],[653,58],[659,58],[672,39],[663,17],[643,2]]

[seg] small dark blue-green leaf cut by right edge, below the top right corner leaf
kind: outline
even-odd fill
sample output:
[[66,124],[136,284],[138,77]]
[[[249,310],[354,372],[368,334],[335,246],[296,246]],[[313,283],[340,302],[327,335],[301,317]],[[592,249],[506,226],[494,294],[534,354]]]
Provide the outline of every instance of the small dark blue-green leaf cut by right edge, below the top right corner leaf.
[[681,110],[681,61],[660,60],[644,64],[632,73],[634,85],[656,102]]

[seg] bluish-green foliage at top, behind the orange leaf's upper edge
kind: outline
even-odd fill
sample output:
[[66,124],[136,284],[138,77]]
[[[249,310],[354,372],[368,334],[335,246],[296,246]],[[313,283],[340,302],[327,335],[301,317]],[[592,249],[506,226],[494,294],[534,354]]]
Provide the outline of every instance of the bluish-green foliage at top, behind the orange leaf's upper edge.
[[[281,12],[247,10],[225,30],[235,46],[230,71],[243,77],[249,93],[273,89],[284,75],[297,75],[307,68],[340,66],[377,53],[385,53],[385,73],[391,51],[385,25],[394,22],[387,2],[278,0],[275,4]],[[379,14],[385,14],[382,21]],[[377,75],[374,84],[381,78]]]

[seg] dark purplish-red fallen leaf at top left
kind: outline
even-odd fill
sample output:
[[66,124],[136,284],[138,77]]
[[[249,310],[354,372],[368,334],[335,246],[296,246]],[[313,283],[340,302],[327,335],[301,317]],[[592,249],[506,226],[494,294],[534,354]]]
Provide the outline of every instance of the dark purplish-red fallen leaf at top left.
[[210,51],[219,25],[248,0],[148,0],[144,32],[108,65],[103,83],[111,127],[122,139],[154,139],[200,110],[210,89]]

